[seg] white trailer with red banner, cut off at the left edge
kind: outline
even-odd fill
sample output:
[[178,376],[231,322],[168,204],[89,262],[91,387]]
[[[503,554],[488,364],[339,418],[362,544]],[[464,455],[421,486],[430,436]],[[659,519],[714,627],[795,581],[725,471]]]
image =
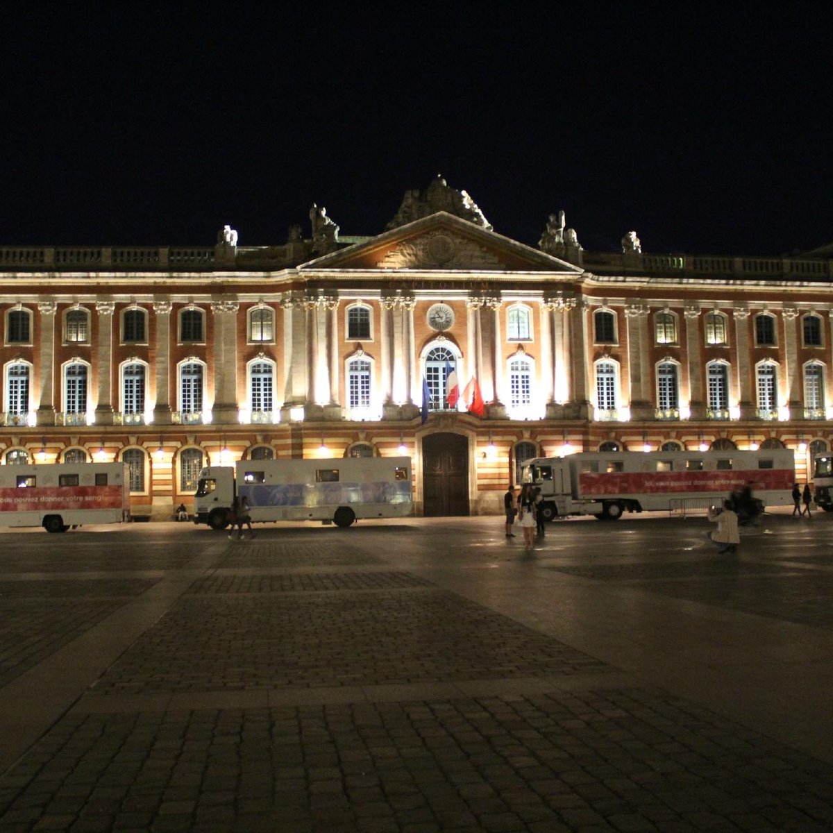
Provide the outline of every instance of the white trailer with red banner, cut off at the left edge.
[[130,520],[124,463],[40,463],[0,466],[0,526],[71,526]]

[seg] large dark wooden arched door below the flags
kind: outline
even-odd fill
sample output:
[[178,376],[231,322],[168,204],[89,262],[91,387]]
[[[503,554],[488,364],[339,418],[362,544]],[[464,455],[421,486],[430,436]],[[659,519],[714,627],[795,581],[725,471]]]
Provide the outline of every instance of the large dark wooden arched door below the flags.
[[422,503],[428,517],[468,515],[468,440],[429,434],[422,440]]

